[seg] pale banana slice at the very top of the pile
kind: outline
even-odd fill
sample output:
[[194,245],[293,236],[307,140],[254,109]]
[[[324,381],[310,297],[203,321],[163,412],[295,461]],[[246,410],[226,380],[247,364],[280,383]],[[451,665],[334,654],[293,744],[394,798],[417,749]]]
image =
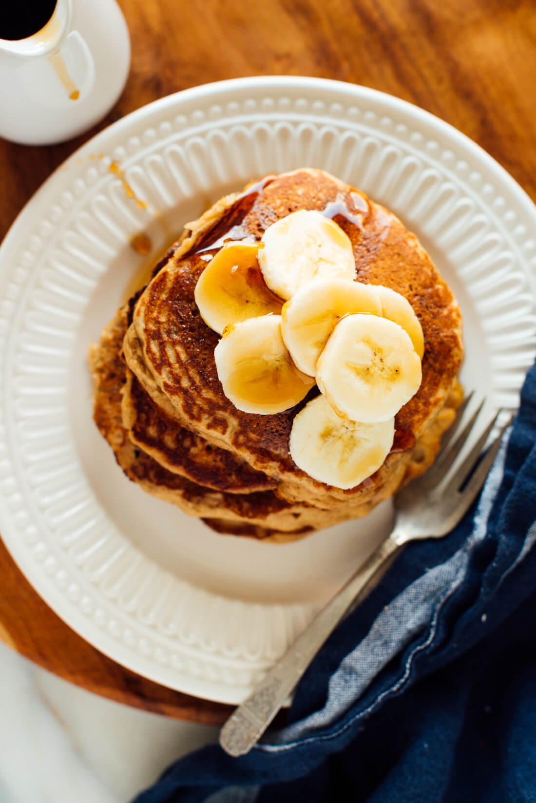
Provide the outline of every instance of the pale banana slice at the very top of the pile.
[[313,279],[355,279],[354,249],[341,226],[315,210],[281,218],[264,232],[260,270],[271,290],[291,298]]

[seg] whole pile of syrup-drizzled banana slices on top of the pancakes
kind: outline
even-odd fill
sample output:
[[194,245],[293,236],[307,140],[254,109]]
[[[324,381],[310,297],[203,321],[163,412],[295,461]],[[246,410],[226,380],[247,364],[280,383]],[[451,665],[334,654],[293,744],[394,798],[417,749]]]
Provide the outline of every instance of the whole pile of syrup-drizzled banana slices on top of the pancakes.
[[289,450],[311,477],[342,489],[383,465],[424,351],[407,299],[355,275],[341,227],[301,210],[260,244],[226,243],[195,287],[203,320],[223,335],[215,364],[238,410],[281,413],[317,383],[321,395],[294,418]]

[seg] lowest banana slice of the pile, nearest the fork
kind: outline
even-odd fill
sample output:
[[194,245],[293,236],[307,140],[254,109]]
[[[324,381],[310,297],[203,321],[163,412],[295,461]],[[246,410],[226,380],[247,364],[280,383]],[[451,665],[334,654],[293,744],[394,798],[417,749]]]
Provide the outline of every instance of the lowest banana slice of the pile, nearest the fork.
[[336,488],[353,488],[383,465],[393,445],[395,419],[362,424],[340,418],[325,396],[293,421],[289,449],[297,467]]

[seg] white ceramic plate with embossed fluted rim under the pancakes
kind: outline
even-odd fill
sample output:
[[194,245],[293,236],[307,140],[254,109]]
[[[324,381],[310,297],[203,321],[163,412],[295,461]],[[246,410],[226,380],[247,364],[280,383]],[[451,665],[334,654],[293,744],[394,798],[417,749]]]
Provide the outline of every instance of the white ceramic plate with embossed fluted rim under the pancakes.
[[0,249],[2,537],[88,642],[227,703],[383,538],[390,504],[284,546],[216,535],[122,475],[92,423],[86,351],[141,263],[133,234],[162,250],[223,192],[303,165],[416,231],[460,300],[462,379],[515,408],[536,342],[536,210],[473,142],[370,89],[255,78],[158,100],[57,170]]

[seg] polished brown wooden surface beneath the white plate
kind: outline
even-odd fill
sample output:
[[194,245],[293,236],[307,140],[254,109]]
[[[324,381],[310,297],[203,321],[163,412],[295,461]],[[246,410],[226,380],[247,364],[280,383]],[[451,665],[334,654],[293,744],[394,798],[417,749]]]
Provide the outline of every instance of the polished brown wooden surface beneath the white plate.
[[[90,2],[90,0],[77,0]],[[536,199],[534,0],[120,0],[133,45],[100,125],[47,148],[0,140],[0,239],[92,134],[151,100],[243,75],[316,75],[390,92],[472,137]],[[227,707],[133,675],[76,636],[0,542],[0,638],[61,677],[151,711],[216,723]]]

